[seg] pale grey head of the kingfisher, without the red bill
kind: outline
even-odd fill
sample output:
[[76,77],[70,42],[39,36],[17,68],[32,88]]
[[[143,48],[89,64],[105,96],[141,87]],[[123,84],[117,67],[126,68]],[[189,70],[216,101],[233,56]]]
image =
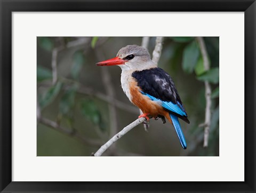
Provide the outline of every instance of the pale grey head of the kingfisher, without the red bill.
[[138,45],[127,45],[121,48],[117,57],[126,60],[124,65],[119,65],[122,70],[145,70],[156,67],[151,61],[148,50]]

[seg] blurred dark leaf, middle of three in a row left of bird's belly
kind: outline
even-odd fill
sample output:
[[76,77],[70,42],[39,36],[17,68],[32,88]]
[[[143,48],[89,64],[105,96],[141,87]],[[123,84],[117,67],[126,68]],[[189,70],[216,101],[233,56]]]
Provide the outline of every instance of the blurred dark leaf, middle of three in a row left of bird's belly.
[[60,99],[59,110],[61,114],[68,115],[75,104],[77,85],[69,87]]

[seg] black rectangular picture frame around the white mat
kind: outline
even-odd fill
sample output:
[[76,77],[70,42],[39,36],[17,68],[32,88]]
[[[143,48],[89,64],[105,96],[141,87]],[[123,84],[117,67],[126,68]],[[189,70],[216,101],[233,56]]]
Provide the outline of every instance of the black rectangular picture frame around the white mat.
[[[1,192],[255,192],[256,2],[210,1],[11,1],[1,6]],[[244,12],[245,21],[245,181],[244,182],[17,182],[12,181],[12,12],[204,11]],[[239,112],[238,112],[239,113]],[[234,118],[235,119],[235,118]],[[234,120],[235,121],[235,120]],[[232,148],[232,147],[230,147]],[[221,175],[221,174],[220,174]]]

